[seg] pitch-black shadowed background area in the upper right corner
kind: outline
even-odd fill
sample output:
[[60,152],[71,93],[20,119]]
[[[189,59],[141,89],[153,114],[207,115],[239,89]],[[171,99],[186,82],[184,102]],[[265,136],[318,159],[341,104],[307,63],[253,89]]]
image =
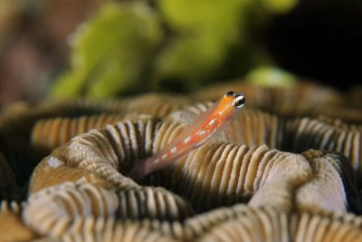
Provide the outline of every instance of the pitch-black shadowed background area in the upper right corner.
[[341,89],[362,80],[362,1],[301,0],[262,37],[281,67]]

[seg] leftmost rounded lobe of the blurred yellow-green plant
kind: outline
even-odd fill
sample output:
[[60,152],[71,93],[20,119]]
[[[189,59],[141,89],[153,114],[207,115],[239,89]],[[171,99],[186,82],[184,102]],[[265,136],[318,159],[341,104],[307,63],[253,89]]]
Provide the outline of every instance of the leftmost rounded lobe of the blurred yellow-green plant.
[[142,2],[111,3],[73,36],[71,70],[52,95],[108,97],[140,88],[140,77],[162,41],[156,13]]

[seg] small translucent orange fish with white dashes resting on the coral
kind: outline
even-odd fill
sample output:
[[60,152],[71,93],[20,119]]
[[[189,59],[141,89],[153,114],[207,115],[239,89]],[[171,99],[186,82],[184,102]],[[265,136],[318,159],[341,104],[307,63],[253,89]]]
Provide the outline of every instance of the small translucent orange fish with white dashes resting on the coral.
[[136,163],[129,172],[133,179],[143,179],[149,173],[170,165],[187,152],[204,144],[216,131],[224,126],[227,121],[245,104],[243,93],[227,92],[220,101],[214,103],[207,111],[198,116],[193,123],[187,125],[175,140],[158,151],[154,156]]

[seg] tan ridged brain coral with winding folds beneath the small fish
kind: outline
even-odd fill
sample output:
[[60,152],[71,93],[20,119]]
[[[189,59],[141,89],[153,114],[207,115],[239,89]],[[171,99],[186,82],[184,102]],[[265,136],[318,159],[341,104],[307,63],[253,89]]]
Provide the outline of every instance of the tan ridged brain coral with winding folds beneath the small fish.
[[[247,102],[223,131],[129,178],[230,90]],[[347,99],[311,82],[230,82],[191,96],[6,109],[0,196],[12,202],[2,203],[0,240],[359,241],[362,116]]]

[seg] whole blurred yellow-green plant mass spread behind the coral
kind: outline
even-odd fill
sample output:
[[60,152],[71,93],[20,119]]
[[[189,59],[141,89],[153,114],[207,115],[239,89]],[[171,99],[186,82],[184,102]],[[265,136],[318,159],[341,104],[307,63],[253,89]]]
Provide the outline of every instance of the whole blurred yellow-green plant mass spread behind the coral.
[[262,46],[252,43],[250,27],[260,27],[271,13],[289,11],[295,4],[296,0],[107,3],[74,34],[71,70],[62,73],[50,95],[191,91],[223,76],[225,67],[241,76],[253,66],[271,63]]

